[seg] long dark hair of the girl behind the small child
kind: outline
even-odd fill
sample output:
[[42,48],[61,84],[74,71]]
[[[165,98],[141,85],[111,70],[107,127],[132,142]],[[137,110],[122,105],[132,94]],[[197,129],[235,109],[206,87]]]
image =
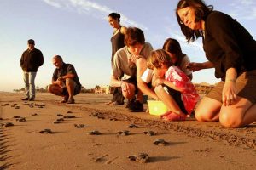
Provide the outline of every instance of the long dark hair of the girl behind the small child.
[[172,53],[177,58],[175,65],[180,66],[185,54],[183,54],[180,44],[176,39],[168,38],[163,45],[163,49],[169,53]]

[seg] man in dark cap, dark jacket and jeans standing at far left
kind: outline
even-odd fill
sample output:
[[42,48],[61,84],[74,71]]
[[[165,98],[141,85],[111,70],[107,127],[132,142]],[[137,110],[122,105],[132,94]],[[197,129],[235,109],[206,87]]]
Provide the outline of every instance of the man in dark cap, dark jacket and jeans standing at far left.
[[44,64],[44,56],[42,52],[35,48],[35,41],[29,39],[27,41],[28,48],[23,52],[20,59],[20,66],[23,70],[23,79],[25,82],[25,95],[22,100],[33,101],[36,97],[35,78],[38,67]]

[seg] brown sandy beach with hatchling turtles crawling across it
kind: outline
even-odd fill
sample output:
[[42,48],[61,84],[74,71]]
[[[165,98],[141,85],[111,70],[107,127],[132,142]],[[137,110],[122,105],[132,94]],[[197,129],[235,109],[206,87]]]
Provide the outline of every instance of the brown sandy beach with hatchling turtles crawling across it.
[[[111,94],[79,94],[74,105],[60,104],[60,97],[48,93],[37,94],[32,102],[21,101],[21,93],[0,95],[0,169],[256,167],[256,122],[236,129],[193,117],[165,122],[146,112],[131,113],[125,105],[105,105]],[[54,123],[59,118],[64,121]],[[6,126],[8,122],[14,126]],[[52,133],[40,133],[44,129]],[[95,130],[102,134],[91,135]],[[121,133],[125,131],[129,134]],[[148,131],[156,134],[144,133]],[[166,144],[154,144],[156,139]],[[148,154],[146,163],[127,157],[139,153]]]

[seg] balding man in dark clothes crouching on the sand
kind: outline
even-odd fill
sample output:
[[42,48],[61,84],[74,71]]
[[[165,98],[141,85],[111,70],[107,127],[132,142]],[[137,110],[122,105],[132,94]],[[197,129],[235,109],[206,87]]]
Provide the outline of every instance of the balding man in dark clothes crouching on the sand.
[[73,65],[64,63],[60,55],[55,55],[52,62],[56,68],[53,73],[52,84],[48,87],[49,93],[62,96],[61,103],[75,103],[73,96],[81,91],[77,72]]

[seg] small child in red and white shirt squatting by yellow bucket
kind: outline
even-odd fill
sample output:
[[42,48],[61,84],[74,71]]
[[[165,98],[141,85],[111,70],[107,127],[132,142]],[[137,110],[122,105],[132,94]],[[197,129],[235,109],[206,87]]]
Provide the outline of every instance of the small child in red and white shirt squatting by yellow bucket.
[[163,49],[150,54],[148,68],[154,71],[157,78],[155,92],[168,109],[160,117],[168,121],[184,121],[194,110],[199,99],[189,77],[177,66],[173,66],[170,55]]

